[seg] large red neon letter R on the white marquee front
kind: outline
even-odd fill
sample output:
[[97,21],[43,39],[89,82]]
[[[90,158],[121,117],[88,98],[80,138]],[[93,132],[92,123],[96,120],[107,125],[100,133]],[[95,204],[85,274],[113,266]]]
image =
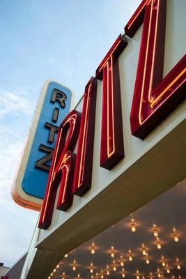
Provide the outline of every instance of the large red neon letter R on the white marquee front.
[[75,168],[75,153],[72,153],[72,151],[75,149],[79,135],[80,120],[81,113],[72,110],[59,128],[45,199],[40,213],[38,227],[41,229],[46,229],[51,223],[56,191],[59,185],[57,209],[65,210],[72,204],[72,180]]

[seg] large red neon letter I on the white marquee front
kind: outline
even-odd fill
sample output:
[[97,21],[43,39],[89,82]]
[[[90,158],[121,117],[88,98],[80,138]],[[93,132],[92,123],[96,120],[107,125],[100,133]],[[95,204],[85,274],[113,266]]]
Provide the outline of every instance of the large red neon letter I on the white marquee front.
[[95,129],[97,80],[92,77],[85,87],[79,133],[73,194],[82,196],[91,188]]

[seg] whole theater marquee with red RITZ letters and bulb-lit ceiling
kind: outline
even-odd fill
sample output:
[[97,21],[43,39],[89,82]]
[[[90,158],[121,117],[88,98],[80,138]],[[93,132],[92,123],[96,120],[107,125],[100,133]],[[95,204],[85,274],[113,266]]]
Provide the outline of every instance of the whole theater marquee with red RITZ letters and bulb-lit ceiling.
[[59,128],[21,278],[186,278],[186,2],[144,0]]

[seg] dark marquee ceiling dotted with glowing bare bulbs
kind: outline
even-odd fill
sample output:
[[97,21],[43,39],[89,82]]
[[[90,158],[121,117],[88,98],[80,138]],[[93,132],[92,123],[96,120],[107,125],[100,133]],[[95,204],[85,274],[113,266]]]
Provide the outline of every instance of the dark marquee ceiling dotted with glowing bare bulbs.
[[186,180],[69,252],[48,279],[186,278],[185,200]]

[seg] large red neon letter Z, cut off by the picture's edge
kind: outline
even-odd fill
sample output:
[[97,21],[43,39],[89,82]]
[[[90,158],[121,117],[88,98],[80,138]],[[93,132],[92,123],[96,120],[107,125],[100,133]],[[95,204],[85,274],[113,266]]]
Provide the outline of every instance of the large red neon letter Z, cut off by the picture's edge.
[[133,36],[144,21],[130,125],[132,135],[143,140],[186,94],[186,56],[162,79],[166,0],[142,1],[125,27]]

